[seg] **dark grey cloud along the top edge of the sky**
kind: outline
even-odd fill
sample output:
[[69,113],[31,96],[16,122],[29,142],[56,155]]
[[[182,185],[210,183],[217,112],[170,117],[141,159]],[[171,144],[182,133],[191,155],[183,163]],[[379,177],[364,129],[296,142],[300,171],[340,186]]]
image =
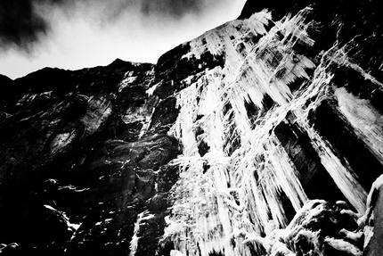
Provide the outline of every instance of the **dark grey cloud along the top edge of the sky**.
[[199,15],[208,6],[228,0],[1,0],[0,51],[16,48],[27,54],[52,32],[51,24],[41,8],[60,9],[70,17],[91,16],[90,21],[107,27],[126,12],[138,12],[148,19],[180,20],[184,15]]

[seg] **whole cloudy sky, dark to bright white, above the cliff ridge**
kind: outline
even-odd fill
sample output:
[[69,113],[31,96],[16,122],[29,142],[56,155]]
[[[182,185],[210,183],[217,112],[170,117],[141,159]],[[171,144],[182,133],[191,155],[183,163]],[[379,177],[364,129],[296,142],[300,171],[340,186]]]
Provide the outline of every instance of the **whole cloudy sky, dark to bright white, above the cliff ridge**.
[[0,0],[0,73],[157,62],[240,15],[246,0]]

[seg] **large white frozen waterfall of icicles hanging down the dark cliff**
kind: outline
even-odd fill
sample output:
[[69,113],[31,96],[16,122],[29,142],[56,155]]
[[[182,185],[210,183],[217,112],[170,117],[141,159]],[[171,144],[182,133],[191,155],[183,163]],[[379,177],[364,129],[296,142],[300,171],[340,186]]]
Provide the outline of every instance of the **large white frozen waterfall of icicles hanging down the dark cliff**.
[[[224,55],[225,62],[203,70],[197,81],[186,78],[189,86],[176,95],[180,112],[169,134],[182,143],[183,155],[177,159],[180,179],[172,188],[162,240],[172,241],[175,252],[251,255],[250,247],[257,250],[257,244],[249,237],[289,224],[286,201],[298,211],[308,200],[302,179],[306,169],[297,169],[274,133],[279,124],[291,121],[289,114],[346,200],[364,211],[367,194],[354,170],[309,124],[308,115],[323,100],[335,100],[381,162],[382,117],[367,100],[333,87],[334,63],[363,71],[337,45],[315,63],[294,50],[295,45],[314,45],[307,33],[314,26],[306,23],[309,12],[306,8],[272,21],[270,12],[263,11],[227,22],[194,39],[183,56],[200,58],[209,52]],[[202,143],[208,153],[200,153]]]

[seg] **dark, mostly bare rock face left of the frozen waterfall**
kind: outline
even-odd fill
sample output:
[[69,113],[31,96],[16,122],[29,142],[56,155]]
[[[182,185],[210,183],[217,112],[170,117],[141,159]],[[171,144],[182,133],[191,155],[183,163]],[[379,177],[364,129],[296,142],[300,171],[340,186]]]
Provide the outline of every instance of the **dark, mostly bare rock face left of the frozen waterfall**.
[[[167,163],[179,145],[146,130],[158,101],[145,92],[151,80],[151,64],[117,60],[40,70],[5,85],[0,240],[17,243],[14,253],[125,255],[138,214],[149,211],[159,240],[177,177]],[[153,114],[156,129],[167,125],[160,114]]]

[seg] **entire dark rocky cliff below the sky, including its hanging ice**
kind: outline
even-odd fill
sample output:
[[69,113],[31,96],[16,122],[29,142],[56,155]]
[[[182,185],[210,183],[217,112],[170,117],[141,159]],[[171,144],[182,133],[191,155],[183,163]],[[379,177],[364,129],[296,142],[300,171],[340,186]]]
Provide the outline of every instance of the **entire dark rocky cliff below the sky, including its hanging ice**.
[[377,255],[377,6],[248,1],[155,65],[0,78],[0,253]]

